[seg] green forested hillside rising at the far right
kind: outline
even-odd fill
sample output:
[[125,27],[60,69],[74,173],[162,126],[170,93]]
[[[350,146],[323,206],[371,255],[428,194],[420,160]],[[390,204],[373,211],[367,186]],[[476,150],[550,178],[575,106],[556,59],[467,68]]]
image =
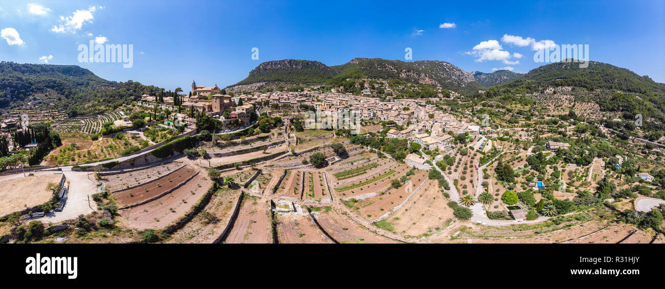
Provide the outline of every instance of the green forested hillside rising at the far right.
[[[522,78],[489,88],[485,96],[511,98],[541,93],[553,86],[569,86],[580,100],[596,102],[602,112],[616,112],[624,120],[641,114],[645,130],[665,130],[665,84],[602,62],[590,61],[587,68],[575,62],[540,66]],[[606,124],[616,128],[617,123]]]

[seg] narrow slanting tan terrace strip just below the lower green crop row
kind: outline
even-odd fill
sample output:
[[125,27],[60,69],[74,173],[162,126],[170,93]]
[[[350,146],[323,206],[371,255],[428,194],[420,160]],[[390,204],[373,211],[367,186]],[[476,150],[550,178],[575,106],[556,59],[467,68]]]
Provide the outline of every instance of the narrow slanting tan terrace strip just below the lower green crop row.
[[364,195],[366,193],[382,193],[390,187],[390,181],[404,175],[408,171],[406,165],[399,165],[395,169],[390,169],[353,181],[352,183],[344,183],[339,187],[335,187],[339,198],[346,199],[349,197]]

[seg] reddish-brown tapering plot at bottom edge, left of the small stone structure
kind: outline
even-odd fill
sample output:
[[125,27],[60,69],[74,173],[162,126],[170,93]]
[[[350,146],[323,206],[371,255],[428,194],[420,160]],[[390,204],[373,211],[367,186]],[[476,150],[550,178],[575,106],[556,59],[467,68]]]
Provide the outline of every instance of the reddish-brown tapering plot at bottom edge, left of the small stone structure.
[[225,243],[269,243],[271,242],[269,205],[257,197],[245,195],[238,217]]

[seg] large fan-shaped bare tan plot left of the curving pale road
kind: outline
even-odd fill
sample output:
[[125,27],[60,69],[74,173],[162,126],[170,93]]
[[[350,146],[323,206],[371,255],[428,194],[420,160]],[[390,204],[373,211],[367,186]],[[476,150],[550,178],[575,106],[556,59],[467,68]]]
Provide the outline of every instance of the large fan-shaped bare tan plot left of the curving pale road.
[[393,231],[404,237],[426,237],[445,229],[455,219],[453,210],[438,191],[438,182],[429,180],[404,207],[385,219]]

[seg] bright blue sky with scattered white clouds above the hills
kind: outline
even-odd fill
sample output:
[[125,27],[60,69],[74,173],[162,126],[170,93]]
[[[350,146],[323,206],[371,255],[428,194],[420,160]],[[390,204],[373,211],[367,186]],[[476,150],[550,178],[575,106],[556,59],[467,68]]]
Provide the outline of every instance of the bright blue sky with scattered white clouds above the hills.
[[[0,29],[0,60],[77,64],[167,90],[228,86],[269,60],[404,60],[406,47],[412,60],[468,72],[528,72],[544,64],[533,48],[551,43],[589,45],[591,60],[665,82],[662,0],[3,1]],[[133,45],[133,66],[80,63],[78,45],[95,39]]]

